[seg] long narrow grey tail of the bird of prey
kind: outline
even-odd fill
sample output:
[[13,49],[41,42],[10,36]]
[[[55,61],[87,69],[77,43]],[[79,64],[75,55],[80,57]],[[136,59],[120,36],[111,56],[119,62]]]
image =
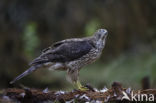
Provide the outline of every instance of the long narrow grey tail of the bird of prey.
[[37,70],[40,67],[40,65],[38,66],[31,66],[29,69],[27,69],[25,72],[23,72],[22,74],[20,74],[19,76],[17,76],[13,81],[10,82],[10,84],[15,83],[17,80],[23,78],[24,76],[32,73],[33,71]]

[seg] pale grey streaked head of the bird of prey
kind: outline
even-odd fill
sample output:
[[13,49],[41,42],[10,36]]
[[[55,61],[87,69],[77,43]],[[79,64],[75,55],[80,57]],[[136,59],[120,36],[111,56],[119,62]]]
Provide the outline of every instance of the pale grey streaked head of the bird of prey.
[[107,35],[108,35],[108,32],[106,29],[98,29],[95,32],[94,38],[96,40],[97,48],[99,49],[104,48]]

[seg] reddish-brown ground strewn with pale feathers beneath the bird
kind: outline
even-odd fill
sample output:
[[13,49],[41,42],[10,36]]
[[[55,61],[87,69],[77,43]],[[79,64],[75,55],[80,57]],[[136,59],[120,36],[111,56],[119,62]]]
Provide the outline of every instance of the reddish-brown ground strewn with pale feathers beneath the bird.
[[103,102],[154,102],[156,89],[132,90],[114,82],[111,88],[98,90],[86,85],[87,91],[49,91],[48,89],[8,88],[0,93],[2,103],[103,103]]

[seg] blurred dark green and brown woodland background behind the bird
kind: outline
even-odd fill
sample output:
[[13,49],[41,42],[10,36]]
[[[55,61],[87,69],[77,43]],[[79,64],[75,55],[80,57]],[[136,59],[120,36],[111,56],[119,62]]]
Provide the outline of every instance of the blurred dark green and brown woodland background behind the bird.
[[[28,63],[52,43],[109,35],[102,57],[80,71],[83,84],[103,88],[119,81],[156,88],[156,0],[0,0],[0,88],[29,68]],[[66,72],[38,70],[15,85],[72,89]]]

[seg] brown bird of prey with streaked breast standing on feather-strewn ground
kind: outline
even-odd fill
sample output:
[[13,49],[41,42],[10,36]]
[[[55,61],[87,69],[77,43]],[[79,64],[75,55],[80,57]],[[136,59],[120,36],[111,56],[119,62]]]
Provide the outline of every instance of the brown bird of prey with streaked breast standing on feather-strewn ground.
[[41,55],[30,63],[30,68],[10,83],[14,83],[37,69],[49,68],[67,71],[67,80],[74,83],[78,89],[86,90],[79,82],[79,71],[83,66],[100,57],[107,35],[106,29],[99,29],[90,37],[71,38],[56,42],[44,49]]

